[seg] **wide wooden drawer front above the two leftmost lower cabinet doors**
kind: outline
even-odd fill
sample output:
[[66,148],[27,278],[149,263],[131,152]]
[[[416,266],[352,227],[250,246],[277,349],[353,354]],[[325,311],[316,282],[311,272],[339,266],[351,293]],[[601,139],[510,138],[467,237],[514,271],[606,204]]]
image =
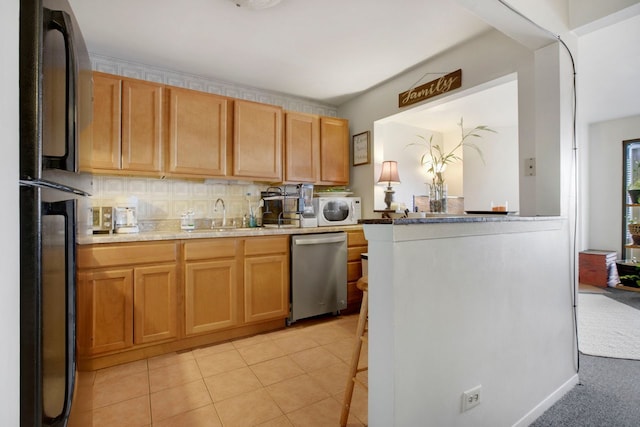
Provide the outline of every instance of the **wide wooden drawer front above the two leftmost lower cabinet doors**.
[[124,245],[80,246],[78,268],[113,267],[147,263],[174,262],[177,258],[176,244],[128,243]]

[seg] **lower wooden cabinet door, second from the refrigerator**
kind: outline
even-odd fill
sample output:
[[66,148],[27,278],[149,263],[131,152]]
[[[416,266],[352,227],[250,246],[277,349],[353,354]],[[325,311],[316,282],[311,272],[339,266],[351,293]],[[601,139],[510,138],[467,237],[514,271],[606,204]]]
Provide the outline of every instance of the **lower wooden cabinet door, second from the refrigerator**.
[[145,344],[177,336],[176,267],[134,269],[133,342]]

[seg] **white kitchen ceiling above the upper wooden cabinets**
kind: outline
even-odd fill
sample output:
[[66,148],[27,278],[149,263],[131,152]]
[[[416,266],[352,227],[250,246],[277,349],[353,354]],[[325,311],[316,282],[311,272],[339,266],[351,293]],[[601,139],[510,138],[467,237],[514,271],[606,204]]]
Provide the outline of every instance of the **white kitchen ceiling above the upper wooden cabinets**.
[[91,53],[334,106],[491,28],[452,0],[69,2]]

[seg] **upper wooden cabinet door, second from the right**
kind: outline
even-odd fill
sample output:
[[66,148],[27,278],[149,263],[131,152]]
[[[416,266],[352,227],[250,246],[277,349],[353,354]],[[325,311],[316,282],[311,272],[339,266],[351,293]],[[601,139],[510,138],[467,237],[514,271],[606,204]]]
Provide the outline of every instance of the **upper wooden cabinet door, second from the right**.
[[316,182],[320,162],[320,118],[311,114],[285,115],[286,182]]

